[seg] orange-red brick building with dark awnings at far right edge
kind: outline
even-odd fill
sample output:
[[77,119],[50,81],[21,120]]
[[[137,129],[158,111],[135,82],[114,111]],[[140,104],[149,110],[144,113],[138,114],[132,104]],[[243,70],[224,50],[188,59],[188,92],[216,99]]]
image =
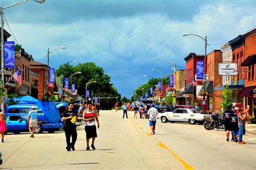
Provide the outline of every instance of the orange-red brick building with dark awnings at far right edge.
[[[256,29],[244,34],[245,38],[245,58],[242,61],[242,68],[245,69],[245,87],[239,93],[243,97],[244,105],[250,105],[249,113],[255,114],[254,105],[256,105]],[[256,92],[256,91],[255,91]]]

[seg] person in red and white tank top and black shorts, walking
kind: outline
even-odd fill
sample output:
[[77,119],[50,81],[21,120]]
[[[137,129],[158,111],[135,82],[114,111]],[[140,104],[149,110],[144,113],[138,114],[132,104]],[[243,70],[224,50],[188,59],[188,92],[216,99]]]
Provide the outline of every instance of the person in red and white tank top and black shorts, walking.
[[90,147],[89,147],[89,140],[92,138],[92,144],[91,147],[93,150],[95,150],[95,138],[97,138],[97,129],[96,129],[96,125],[95,125],[95,119],[97,121],[98,124],[98,129],[99,129],[99,120],[98,120],[98,115],[97,115],[97,111],[95,109],[92,109],[92,103],[89,101],[87,103],[88,108],[86,110],[84,110],[83,113],[83,120],[85,121],[85,126],[84,126],[84,130],[86,133],[86,150],[89,151]]

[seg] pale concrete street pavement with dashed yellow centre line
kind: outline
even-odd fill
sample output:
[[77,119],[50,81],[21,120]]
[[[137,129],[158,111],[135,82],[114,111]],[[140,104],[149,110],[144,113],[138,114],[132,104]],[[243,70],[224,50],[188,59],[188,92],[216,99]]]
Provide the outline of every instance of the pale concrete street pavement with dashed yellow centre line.
[[203,125],[156,124],[122,118],[122,111],[100,111],[96,150],[86,151],[84,126],[77,128],[76,151],[67,152],[64,131],[8,134],[0,143],[2,169],[255,169],[256,135],[246,145],[227,142],[224,130]]

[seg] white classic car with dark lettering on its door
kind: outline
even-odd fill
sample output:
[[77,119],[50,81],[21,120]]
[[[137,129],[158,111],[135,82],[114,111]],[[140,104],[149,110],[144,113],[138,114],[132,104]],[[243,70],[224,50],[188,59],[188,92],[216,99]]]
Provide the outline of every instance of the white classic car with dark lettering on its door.
[[205,121],[210,119],[210,115],[202,114],[195,109],[176,109],[173,112],[163,112],[157,115],[161,122],[189,122],[190,124],[204,124]]

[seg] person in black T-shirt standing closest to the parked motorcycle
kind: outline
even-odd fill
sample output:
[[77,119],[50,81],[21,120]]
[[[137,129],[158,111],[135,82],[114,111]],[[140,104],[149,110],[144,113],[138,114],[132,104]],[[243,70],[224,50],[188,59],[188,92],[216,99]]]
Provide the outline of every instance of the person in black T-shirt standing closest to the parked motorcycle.
[[[230,116],[234,114],[234,111],[231,110],[232,105],[227,106],[227,110],[224,111],[223,116],[224,116],[224,127],[225,127],[225,132],[226,132],[226,141],[229,141],[230,139],[230,131],[231,131],[231,118]],[[232,134],[232,139],[231,141],[234,141],[234,136]]]

